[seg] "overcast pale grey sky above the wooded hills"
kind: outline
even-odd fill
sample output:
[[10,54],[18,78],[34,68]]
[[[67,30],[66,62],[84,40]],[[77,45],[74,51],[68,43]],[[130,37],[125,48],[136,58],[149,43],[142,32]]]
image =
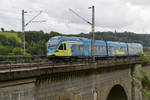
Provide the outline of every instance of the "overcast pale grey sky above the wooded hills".
[[88,33],[91,26],[73,14],[91,22],[95,6],[95,31],[150,32],[150,0],[0,0],[0,28],[21,31],[21,11],[24,9],[25,23],[39,11],[42,13],[25,30],[56,31],[65,34]]

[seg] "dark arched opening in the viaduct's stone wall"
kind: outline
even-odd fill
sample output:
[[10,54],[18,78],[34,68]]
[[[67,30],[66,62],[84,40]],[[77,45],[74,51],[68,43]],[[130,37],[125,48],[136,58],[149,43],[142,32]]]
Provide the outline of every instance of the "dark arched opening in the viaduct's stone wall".
[[128,96],[123,86],[116,84],[110,89],[106,100],[128,100]]

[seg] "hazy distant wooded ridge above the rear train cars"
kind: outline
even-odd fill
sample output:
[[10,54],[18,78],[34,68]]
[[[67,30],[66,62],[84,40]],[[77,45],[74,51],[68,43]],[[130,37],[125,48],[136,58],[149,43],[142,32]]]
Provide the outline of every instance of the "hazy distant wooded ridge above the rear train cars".
[[[76,36],[91,38],[90,34],[80,33]],[[96,40],[135,42],[150,47],[150,34],[136,34],[133,32],[95,32]]]

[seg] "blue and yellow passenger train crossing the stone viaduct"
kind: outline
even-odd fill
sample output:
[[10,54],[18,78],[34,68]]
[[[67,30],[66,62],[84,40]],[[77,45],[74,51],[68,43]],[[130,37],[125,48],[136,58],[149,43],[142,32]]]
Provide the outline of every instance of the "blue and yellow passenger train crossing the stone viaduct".
[[83,37],[55,36],[47,42],[48,57],[91,57],[91,47],[94,45],[95,57],[136,56],[143,54],[143,46],[139,43],[123,43],[95,40]]

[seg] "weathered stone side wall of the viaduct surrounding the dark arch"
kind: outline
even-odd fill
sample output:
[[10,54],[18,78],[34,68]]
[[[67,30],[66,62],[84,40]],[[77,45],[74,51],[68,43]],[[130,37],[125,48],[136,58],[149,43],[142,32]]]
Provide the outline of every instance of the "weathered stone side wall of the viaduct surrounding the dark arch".
[[0,100],[107,100],[115,85],[132,100],[130,68],[99,70],[41,75],[34,83],[0,87]]

